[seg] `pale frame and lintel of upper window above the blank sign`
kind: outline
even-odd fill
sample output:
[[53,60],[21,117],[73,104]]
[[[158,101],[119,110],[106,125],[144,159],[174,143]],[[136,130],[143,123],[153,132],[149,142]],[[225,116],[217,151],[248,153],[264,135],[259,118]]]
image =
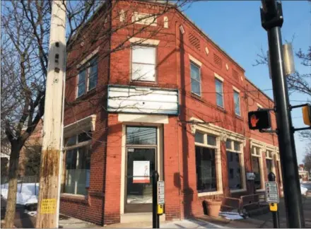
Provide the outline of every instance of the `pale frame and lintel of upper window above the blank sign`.
[[[141,44],[137,43],[139,42],[139,39],[141,40]],[[131,68],[131,81],[132,82],[148,82],[148,83],[156,83],[157,82],[157,69],[156,69],[156,66],[157,66],[157,44],[155,45],[150,45],[151,42],[150,40],[143,40],[143,38],[138,38],[138,39],[135,39],[135,40],[132,40],[131,43],[133,43],[132,47],[131,47],[131,65],[130,65],[130,68]],[[135,45],[136,43],[136,45]],[[146,64],[146,63],[139,63],[139,62],[134,62],[133,61],[133,47],[152,47],[153,49],[155,49],[155,64],[154,64],[154,71],[155,71],[155,76],[154,76],[154,80],[153,81],[147,81],[147,80],[142,80],[142,79],[133,79],[133,73],[132,73],[132,69],[133,69],[133,64],[144,64],[144,65],[153,65],[153,64]]]

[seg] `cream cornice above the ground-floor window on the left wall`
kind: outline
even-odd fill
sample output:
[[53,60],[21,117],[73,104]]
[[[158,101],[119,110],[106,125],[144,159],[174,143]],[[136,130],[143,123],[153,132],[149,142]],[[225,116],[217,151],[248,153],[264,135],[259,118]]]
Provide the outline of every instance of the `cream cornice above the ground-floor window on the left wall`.
[[96,114],[80,119],[64,127],[64,138],[79,134],[82,131],[95,131]]

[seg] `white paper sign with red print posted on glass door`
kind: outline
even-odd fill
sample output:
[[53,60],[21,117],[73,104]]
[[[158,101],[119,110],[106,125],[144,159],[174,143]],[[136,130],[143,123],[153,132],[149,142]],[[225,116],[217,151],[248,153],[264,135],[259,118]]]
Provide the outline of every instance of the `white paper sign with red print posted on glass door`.
[[133,161],[133,183],[150,183],[150,161]]

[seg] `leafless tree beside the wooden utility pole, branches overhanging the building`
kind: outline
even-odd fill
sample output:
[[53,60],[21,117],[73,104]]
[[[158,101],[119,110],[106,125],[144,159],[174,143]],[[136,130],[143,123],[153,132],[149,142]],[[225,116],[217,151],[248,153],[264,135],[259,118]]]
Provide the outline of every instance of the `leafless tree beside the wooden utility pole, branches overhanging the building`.
[[[136,4],[123,1],[130,7],[122,11],[118,8],[119,2],[122,1],[67,1],[67,52],[72,54],[83,46],[80,55],[84,58],[93,52],[93,47],[101,46],[105,47],[105,52],[100,54],[98,61],[105,59],[113,52],[129,48],[127,44],[131,37],[145,32],[148,34],[146,39],[156,35],[163,28],[149,29],[156,18],[172,8],[184,6],[187,1],[178,0],[174,4],[158,1],[161,6],[143,17],[133,17]],[[59,1],[59,4],[63,2]],[[6,228],[13,228],[15,217],[20,150],[44,115],[51,5],[51,1],[45,0],[1,1],[1,138],[5,136],[11,143]],[[143,23],[139,30],[135,28],[135,23],[145,21],[148,23]],[[131,28],[131,33],[111,46],[110,37],[123,28]],[[69,59],[66,78],[76,76],[74,69],[81,61],[81,58]],[[79,102],[95,105],[95,101],[101,99],[102,95],[98,95],[66,105],[70,107]]]

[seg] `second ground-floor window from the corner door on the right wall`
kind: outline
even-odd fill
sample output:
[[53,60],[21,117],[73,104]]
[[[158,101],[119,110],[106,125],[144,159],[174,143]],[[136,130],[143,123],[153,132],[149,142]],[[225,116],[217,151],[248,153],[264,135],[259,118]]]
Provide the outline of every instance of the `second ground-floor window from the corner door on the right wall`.
[[228,139],[225,142],[227,153],[228,180],[230,190],[243,188],[242,146],[239,141]]

